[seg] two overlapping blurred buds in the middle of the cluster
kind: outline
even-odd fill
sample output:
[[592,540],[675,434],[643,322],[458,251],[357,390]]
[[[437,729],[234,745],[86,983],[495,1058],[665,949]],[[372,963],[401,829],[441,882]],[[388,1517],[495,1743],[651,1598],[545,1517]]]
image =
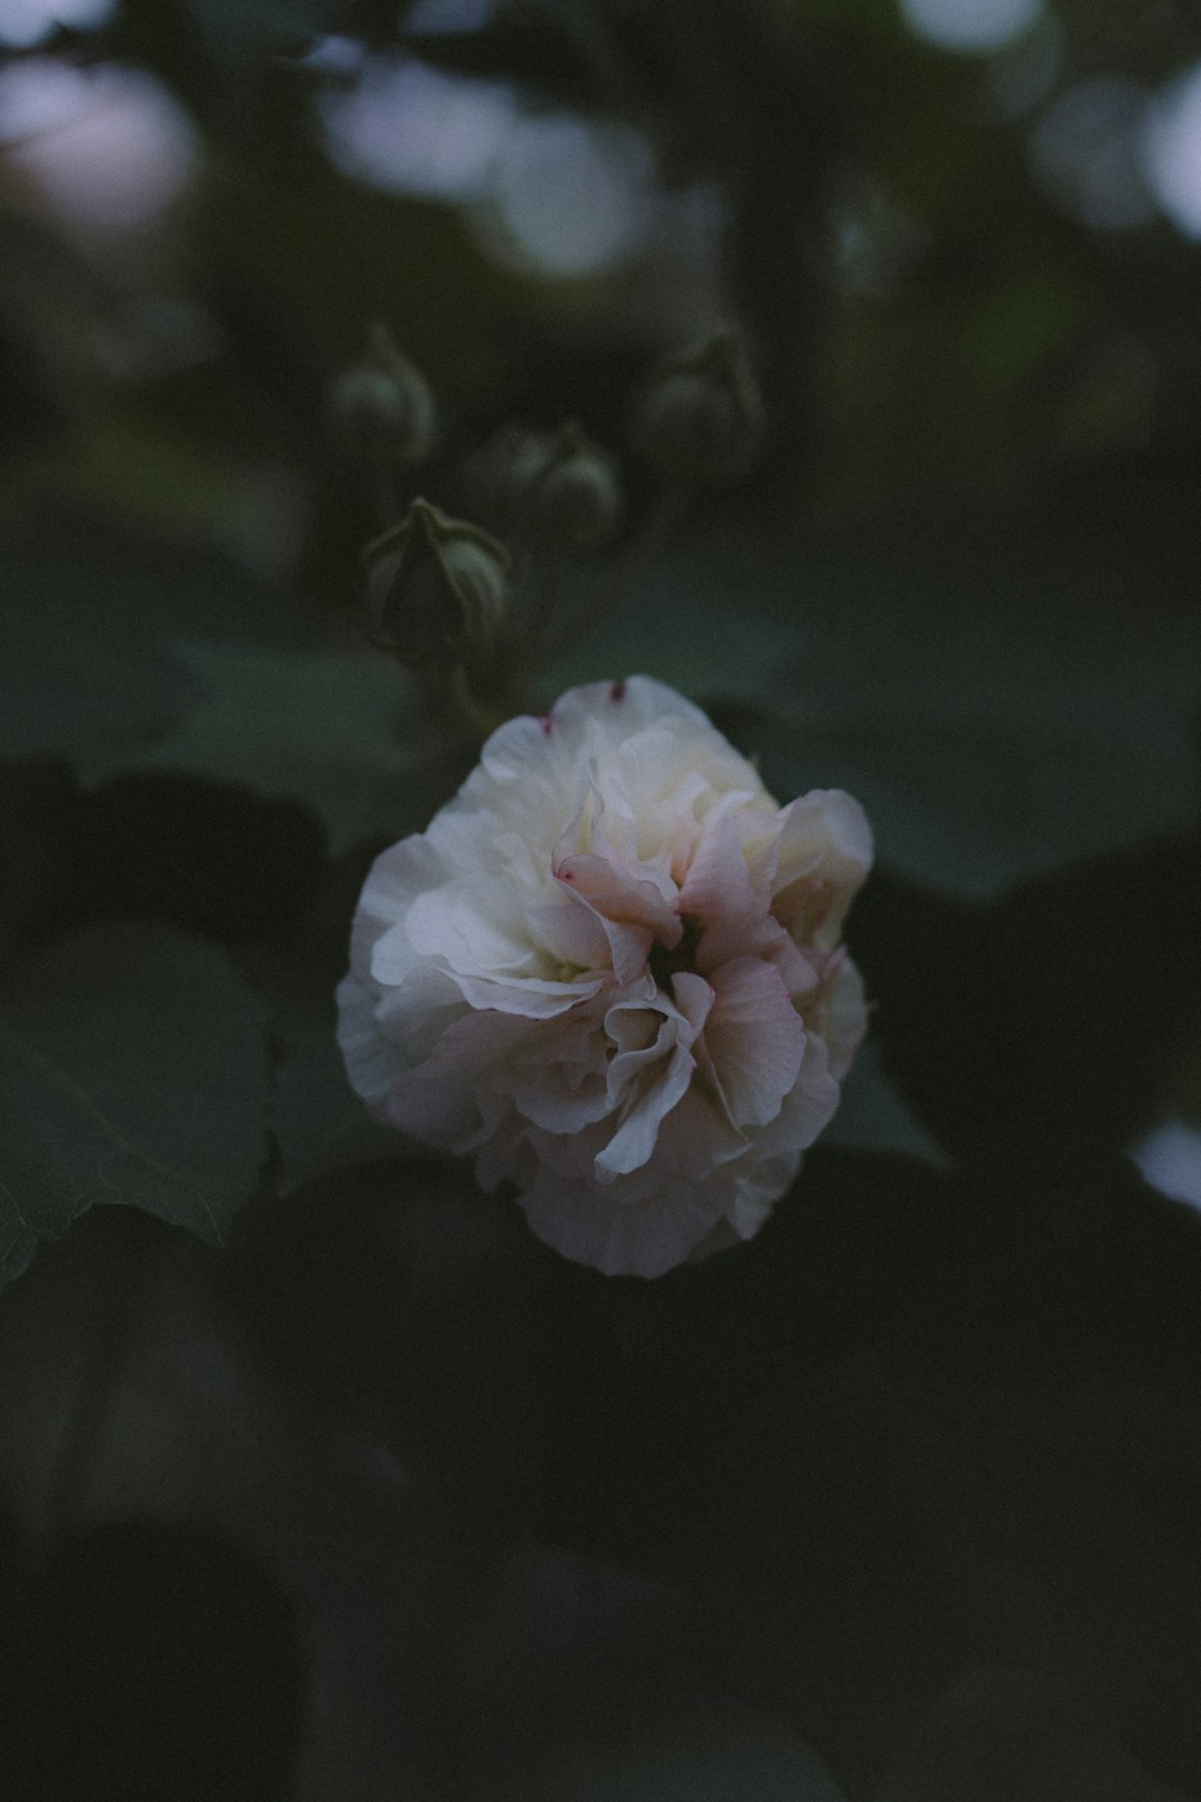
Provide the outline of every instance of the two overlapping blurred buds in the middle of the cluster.
[[468,479],[504,532],[551,550],[598,550],[621,521],[618,465],[578,425],[508,427],[472,460]]

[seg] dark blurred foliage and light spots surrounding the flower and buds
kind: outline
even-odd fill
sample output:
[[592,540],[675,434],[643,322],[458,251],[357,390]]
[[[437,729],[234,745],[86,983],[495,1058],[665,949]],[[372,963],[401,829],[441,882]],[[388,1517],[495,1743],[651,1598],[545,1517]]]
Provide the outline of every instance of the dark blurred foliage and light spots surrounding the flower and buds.
[[[1201,1795],[1197,14],[0,40],[5,1795]],[[628,546],[630,398],[729,321],[760,461],[537,687],[862,798],[873,1025],[762,1236],[645,1285],[340,1074],[364,872],[465,764],[326,395],[384,324],[452,510],[576,418]]]

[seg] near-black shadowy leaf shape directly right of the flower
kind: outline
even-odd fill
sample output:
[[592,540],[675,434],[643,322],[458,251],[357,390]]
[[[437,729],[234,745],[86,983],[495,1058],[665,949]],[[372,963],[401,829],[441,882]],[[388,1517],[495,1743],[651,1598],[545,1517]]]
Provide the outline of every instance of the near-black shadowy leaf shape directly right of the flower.
[[[1133,930],[1138,980],[1127,982],[1120,948]],[[880,867],[848,937],[884,1069],[938,1142],[981,1168],[1079,1177],[1147,1132],[1199,1042],[1192,834],[1070,865],[990,903]]]

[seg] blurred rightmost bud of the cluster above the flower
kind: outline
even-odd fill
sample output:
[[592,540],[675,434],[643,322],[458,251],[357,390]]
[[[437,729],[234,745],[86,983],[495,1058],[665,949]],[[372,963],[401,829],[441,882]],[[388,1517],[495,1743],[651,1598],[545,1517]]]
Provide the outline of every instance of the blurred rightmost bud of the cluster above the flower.
[[666,481],[736,481],[762,436],[763,402],[733,332],[666,364],[634,407],[634,449]]

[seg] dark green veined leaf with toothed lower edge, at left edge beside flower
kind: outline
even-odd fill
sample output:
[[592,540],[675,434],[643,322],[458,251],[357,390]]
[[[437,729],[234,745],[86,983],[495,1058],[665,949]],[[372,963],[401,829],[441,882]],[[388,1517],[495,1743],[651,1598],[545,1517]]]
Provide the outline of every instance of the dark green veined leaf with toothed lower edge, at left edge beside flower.
[[266,1153],[261,1011],[214,948],[112,921],[0,997],[0,1276],[99,1202],[221,1243]]

